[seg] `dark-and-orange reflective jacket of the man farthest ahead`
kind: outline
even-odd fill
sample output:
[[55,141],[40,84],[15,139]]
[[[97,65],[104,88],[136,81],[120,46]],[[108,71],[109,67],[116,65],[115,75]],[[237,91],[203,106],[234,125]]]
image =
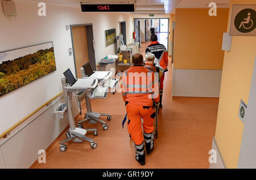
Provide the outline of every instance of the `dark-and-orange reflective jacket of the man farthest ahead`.
[[159,44],[158,41],[153,41],[150,45],[147,46],[146,54],[147,53],[153,53],[155,58],[158,59],[158,62],[163,68],[164,72],[168,71],[168,52],[164,45]]

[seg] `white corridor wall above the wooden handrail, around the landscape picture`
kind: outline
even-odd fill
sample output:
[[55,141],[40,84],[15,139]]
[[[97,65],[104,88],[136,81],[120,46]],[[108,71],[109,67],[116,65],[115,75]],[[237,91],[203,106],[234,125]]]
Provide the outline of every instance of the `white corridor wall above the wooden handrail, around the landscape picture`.
[[0,51],[53,41],[57,70],[0,97],[0,134],[62,91],[60,78],[67,68],[75,74],[73,56],[68,56],[68,49],[72,48],[71,32],[65,25],[93,24],[96,61],[115,50],[114,44],[105,47],[104,30],[116,28],[118,33],[118,21],[125,20],[127,44],[133,32],[130,14],[86,13],[80,8],[47,4],[47,15],[38,16],[36,2],[19,0],[15,5],[17,16],[13,19],[4,16],[0,7]]

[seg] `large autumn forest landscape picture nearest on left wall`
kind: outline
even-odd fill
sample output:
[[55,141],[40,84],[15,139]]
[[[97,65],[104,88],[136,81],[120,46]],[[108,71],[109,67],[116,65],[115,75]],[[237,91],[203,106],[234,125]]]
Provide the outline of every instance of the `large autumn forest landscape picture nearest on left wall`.
[[53,42],[0,52],[0,96],[53,71]]

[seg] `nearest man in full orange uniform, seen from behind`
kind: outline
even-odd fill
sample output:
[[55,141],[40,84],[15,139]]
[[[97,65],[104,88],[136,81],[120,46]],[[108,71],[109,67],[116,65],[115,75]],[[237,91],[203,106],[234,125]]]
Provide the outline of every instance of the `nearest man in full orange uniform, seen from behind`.
[[[135,159],[145,164],[145,151],[154,149],[154,118],[152,99],[159,103],[158,79],[155,74],[144,68],[142,54],[134,54],[133,66],[123,72],[122,96],[127,112],[127,129],[134,141]],[[143,118],[143,131],[141,126]]]

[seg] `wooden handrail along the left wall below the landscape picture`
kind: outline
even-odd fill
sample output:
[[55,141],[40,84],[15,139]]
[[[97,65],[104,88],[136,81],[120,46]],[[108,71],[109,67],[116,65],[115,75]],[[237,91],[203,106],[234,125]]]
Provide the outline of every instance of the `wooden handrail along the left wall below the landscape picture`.
[[5,132],[3,132],[0,135],[0,139],[1,138],[6,138],[7,134],[9,134],[9,132],[11,132],[12,130],[14,130],[14,128],[16,128],[17,126],[19,126],[21,123],[23,123],[24,121],[26,121],[28,118],[30,118],[32,115],[34,115],[35,113],[39,112],[39,110],[41,110],[44,106],[48,105],[51,101],[55,100],[55,98],[57,98],[58,96],[60,96],[63,93],[63,91],[61,91],[60,93],[58,93],[56,96],[52,97],[49,101],[47,101],[46,103],[44,103],[42,106],[40,106],[38,109],[34,110],[32,113],[28,114],[26,117],[24,117],[23,119],[21,119],[19,122],[17,122],[15,125],[11,126],[8,130],[6,130]]

